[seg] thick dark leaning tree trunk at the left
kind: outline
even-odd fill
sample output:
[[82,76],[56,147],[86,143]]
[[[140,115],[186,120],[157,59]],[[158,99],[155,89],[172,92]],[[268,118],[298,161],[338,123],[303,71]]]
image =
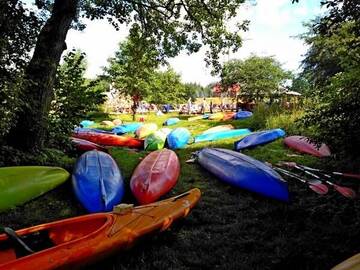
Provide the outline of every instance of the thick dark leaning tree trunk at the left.
[[66,35],[75,19],[78,2],[55,0],[51,17],[39,33],[34,55],[25,71],[26,84],[21,93],[24,105],[7,137],[11,146],[24,151],[43,147],[56,71],[66,49]]

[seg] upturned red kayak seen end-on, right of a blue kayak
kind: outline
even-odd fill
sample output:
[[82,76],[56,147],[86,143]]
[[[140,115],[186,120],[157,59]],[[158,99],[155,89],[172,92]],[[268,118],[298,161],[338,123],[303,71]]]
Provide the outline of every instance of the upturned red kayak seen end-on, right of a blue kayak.
[[180,175],[180,161],[174,151],[157,150],[147,155],[136,167],[130,189],[140,204],[155,202],[168,193]]

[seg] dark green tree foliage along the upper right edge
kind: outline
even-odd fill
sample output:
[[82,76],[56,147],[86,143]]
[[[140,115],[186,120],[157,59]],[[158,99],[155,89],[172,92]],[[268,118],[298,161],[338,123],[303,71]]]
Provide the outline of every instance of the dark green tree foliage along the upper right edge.
[[304,126],[317,130],[317,140],[334,153],[357,157],[360,149],[360,3],[326,1],[330,11],[313,22],[304,36],[310,46],[304,73],[319,104],[309,108]]

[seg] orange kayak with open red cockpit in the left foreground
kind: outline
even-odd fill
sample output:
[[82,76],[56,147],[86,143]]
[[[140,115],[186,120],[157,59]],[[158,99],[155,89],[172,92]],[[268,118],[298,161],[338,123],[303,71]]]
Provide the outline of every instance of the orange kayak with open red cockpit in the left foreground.
[[5,234],[0,234],[0,270],[84,267],[129,249],[145,235],[168,229],[174,221],[189,214],[200,196],[199,189],[192,189],[149,205],[125,205],[110,213],[89,214],[16,231],[32,249],[30,252],[16,248]]

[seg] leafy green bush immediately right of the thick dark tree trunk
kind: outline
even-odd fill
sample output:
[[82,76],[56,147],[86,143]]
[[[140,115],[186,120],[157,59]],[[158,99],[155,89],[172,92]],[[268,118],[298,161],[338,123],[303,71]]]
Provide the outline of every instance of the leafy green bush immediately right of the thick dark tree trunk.
[[86,80],[85,70],[84,53],[71,51],[64,56],[64,63],[58,68],[55,98],[49,114],[48,145],[69,145],[68,136],[74,126],[104,101],[107,84],[101,80]]

